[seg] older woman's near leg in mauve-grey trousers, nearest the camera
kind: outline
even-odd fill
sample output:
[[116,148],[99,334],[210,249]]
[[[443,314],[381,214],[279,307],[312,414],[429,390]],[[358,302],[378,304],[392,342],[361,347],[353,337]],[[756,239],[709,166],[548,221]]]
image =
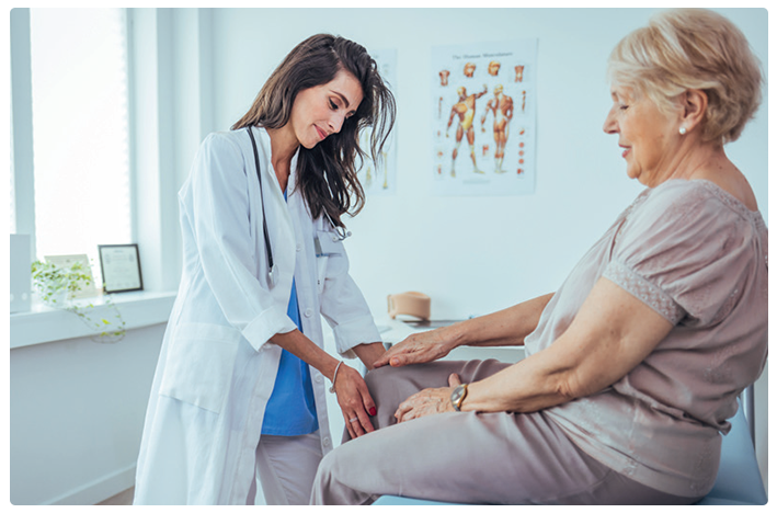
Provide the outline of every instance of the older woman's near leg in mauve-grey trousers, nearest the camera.
[[379,495],[564,503],[564,495],[595,487],[608,472],[541,414],[452,412],[390,425],[335,448],[319,466],[311,503],[368,504]]

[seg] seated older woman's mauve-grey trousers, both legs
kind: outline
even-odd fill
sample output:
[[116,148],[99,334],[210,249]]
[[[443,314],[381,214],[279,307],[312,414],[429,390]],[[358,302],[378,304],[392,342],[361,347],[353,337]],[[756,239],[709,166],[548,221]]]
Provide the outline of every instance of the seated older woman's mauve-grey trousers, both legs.
[[369,504],[402,495],[470,504],[692,504],[632,481],[580,451],[542,412],[452,412],[397,424],[400,402],[424,388],[483,379],[494,360],[381,367],[366,381],[377,431],[328,454],[311,504]]

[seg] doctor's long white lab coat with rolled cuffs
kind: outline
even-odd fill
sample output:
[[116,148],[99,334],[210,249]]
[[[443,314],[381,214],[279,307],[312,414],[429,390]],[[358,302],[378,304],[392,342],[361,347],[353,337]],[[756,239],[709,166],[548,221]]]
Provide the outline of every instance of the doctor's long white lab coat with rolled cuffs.
[[[179,193],[184,261],[164,334],[137,464],[137,504],[244,504],[254,476],[264,410],[281,347],[296,328],[286,315],[296,277],[304,333],[323,347],[319,312],[336,350],[380,340],[347,273],[330,223],[311,219],[294,191],[296,156],[283,197],[270,162],[270,137],[253,128],[275,260],[270,283],[259,181],[245,129],[209,135]],[[322,252],[317,256],[313,237]],[[329,381],[310,367],[323,454],[332,448]]]

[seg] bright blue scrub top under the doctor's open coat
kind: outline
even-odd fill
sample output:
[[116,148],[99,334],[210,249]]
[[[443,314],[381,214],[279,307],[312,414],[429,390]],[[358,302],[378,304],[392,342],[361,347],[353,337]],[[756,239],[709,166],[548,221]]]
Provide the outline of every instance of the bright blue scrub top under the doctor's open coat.
[[[284,198],[286,193],[284,193]],[[297,283],[292,282],[292,297],[288,300],[288,317],[299,331],[299,304],[297,303]],[[283,350],[281,365],[275,377],[275,387],[264,412],[262,434],[298,436],[318,430],[318,415],[313,400],[313,386],[310,380],[310,367],[294,354]]]

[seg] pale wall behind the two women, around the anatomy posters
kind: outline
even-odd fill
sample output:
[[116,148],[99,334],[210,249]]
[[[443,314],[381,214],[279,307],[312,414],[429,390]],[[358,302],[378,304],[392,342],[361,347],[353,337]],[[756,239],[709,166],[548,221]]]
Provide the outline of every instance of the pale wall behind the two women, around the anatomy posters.
[[[398,191],[370,197],[348,223],[352,274],[373,314],[386,296],[421,290],[436,319],[482,315],[556,289],[587,248],[637,196],[616,136],[602,132],[609,109],[606,59],[653,9],[214,10],[214,129],[228,129],[298,42],[330,32],[367,49],[397,48]],[[765,9],[721,9],[768,71]],[[537,37],[537,182],[532,195],[431,194],[431,48]],[[768,73],[767,73],[768,75]],[[768,219],[767,111],[727,147]],[[767,476],[767,379],[757,384],[756,442]]]

